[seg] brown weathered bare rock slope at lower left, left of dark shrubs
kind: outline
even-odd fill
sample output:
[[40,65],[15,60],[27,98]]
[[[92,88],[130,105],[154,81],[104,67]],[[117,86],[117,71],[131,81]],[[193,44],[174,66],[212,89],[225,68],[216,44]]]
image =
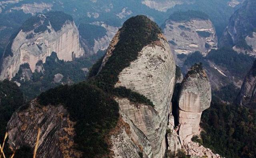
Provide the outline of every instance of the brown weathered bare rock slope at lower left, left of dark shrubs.
[[26,144],[34,148],[41,127],[37,158],[68,158],[82,156],[74,149],[74,125],[63,106],[40,106],[32,100],[26,110],[14,112],[8,122],[8,144],[16,150]]

